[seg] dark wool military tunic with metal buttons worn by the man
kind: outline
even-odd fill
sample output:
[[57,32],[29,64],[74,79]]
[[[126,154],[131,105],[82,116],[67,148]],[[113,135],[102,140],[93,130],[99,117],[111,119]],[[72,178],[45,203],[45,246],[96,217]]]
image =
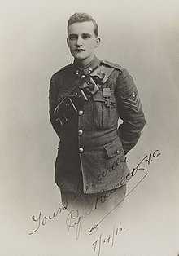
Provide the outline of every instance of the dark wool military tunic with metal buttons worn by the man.
[[[86,95],[82,103],[80,89]],[[58,105],[68,95],[75,108],[65,116]],[[55,182],[61,190],[90,194],[124,185],[129,173],[125,155],[145,125],[128,71],[97,57],[83,69],[74,62],[51,77],[49,101],[50,121],[60,138]]]

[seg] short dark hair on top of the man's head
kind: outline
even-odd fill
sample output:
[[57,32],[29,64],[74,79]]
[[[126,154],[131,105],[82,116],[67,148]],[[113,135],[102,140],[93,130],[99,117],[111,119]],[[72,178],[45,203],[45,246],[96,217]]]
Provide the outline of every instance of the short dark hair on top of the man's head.
[[89,15],[88,13],[85,12],[76,12],[74,13],[72,16],[70,16],[69,20],[68,20],[68,27],[69,25],[72,25],[74,23],[77,22],[85,22],[85,21],[92,21],[94,24],[94,34],[96,37],[98,37],[98,24],[96,23],[96,21],[94,20],[94,18],[92,18],[91,15]]

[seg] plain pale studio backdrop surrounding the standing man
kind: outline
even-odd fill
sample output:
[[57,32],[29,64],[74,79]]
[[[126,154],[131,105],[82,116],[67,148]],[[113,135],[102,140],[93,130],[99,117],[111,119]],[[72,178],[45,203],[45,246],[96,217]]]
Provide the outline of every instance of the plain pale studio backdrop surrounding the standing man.
[[[98,58],[128,68],[146,114],[146,127],[128,155],[132,170],[159,150],[130,180],[119,223],[123,232],[101,241],[100,255],[177,256],[179,3],[178,1],[1,1],[1,174],[0,255],[98,255],[100,234],[77,241],[67,234],[67,214],[38,227],[61,205],[54,181],[58,139],[50,126],[48,90],[52,73],[72,62],[66,25],[75,11],[94,16],[102,39]],[[110,217],[109,217],[110,218]],[[92,223],[93,224],[93,223]],[[85,227],[85,219],[83,220]],[[97,245],[98,246],[98,245]]]

